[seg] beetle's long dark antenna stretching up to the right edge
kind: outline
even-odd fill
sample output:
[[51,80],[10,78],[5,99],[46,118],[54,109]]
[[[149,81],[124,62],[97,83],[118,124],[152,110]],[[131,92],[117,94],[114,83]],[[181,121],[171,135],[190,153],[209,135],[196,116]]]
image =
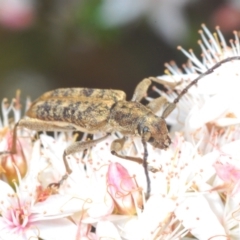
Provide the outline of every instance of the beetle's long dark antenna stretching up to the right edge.
[[177,104],[179,100],[187,93],[188,89],[191,88],[193,85],[197,84],[198,81],[205,76],[209,75],[210,73],[214,72],[214,70],[218,67],[220,67],[222,64],[233,61],[233,60],[240,60],[240,56],[234,56],[234,57],[229,57],[226,58],[218,63],[216,63],[213,67],[209,68],[206,72],[200,74],[196,79],[194,79],[190,84],[188,84],[179,94],[178,96],[174,99],[173,103]]

